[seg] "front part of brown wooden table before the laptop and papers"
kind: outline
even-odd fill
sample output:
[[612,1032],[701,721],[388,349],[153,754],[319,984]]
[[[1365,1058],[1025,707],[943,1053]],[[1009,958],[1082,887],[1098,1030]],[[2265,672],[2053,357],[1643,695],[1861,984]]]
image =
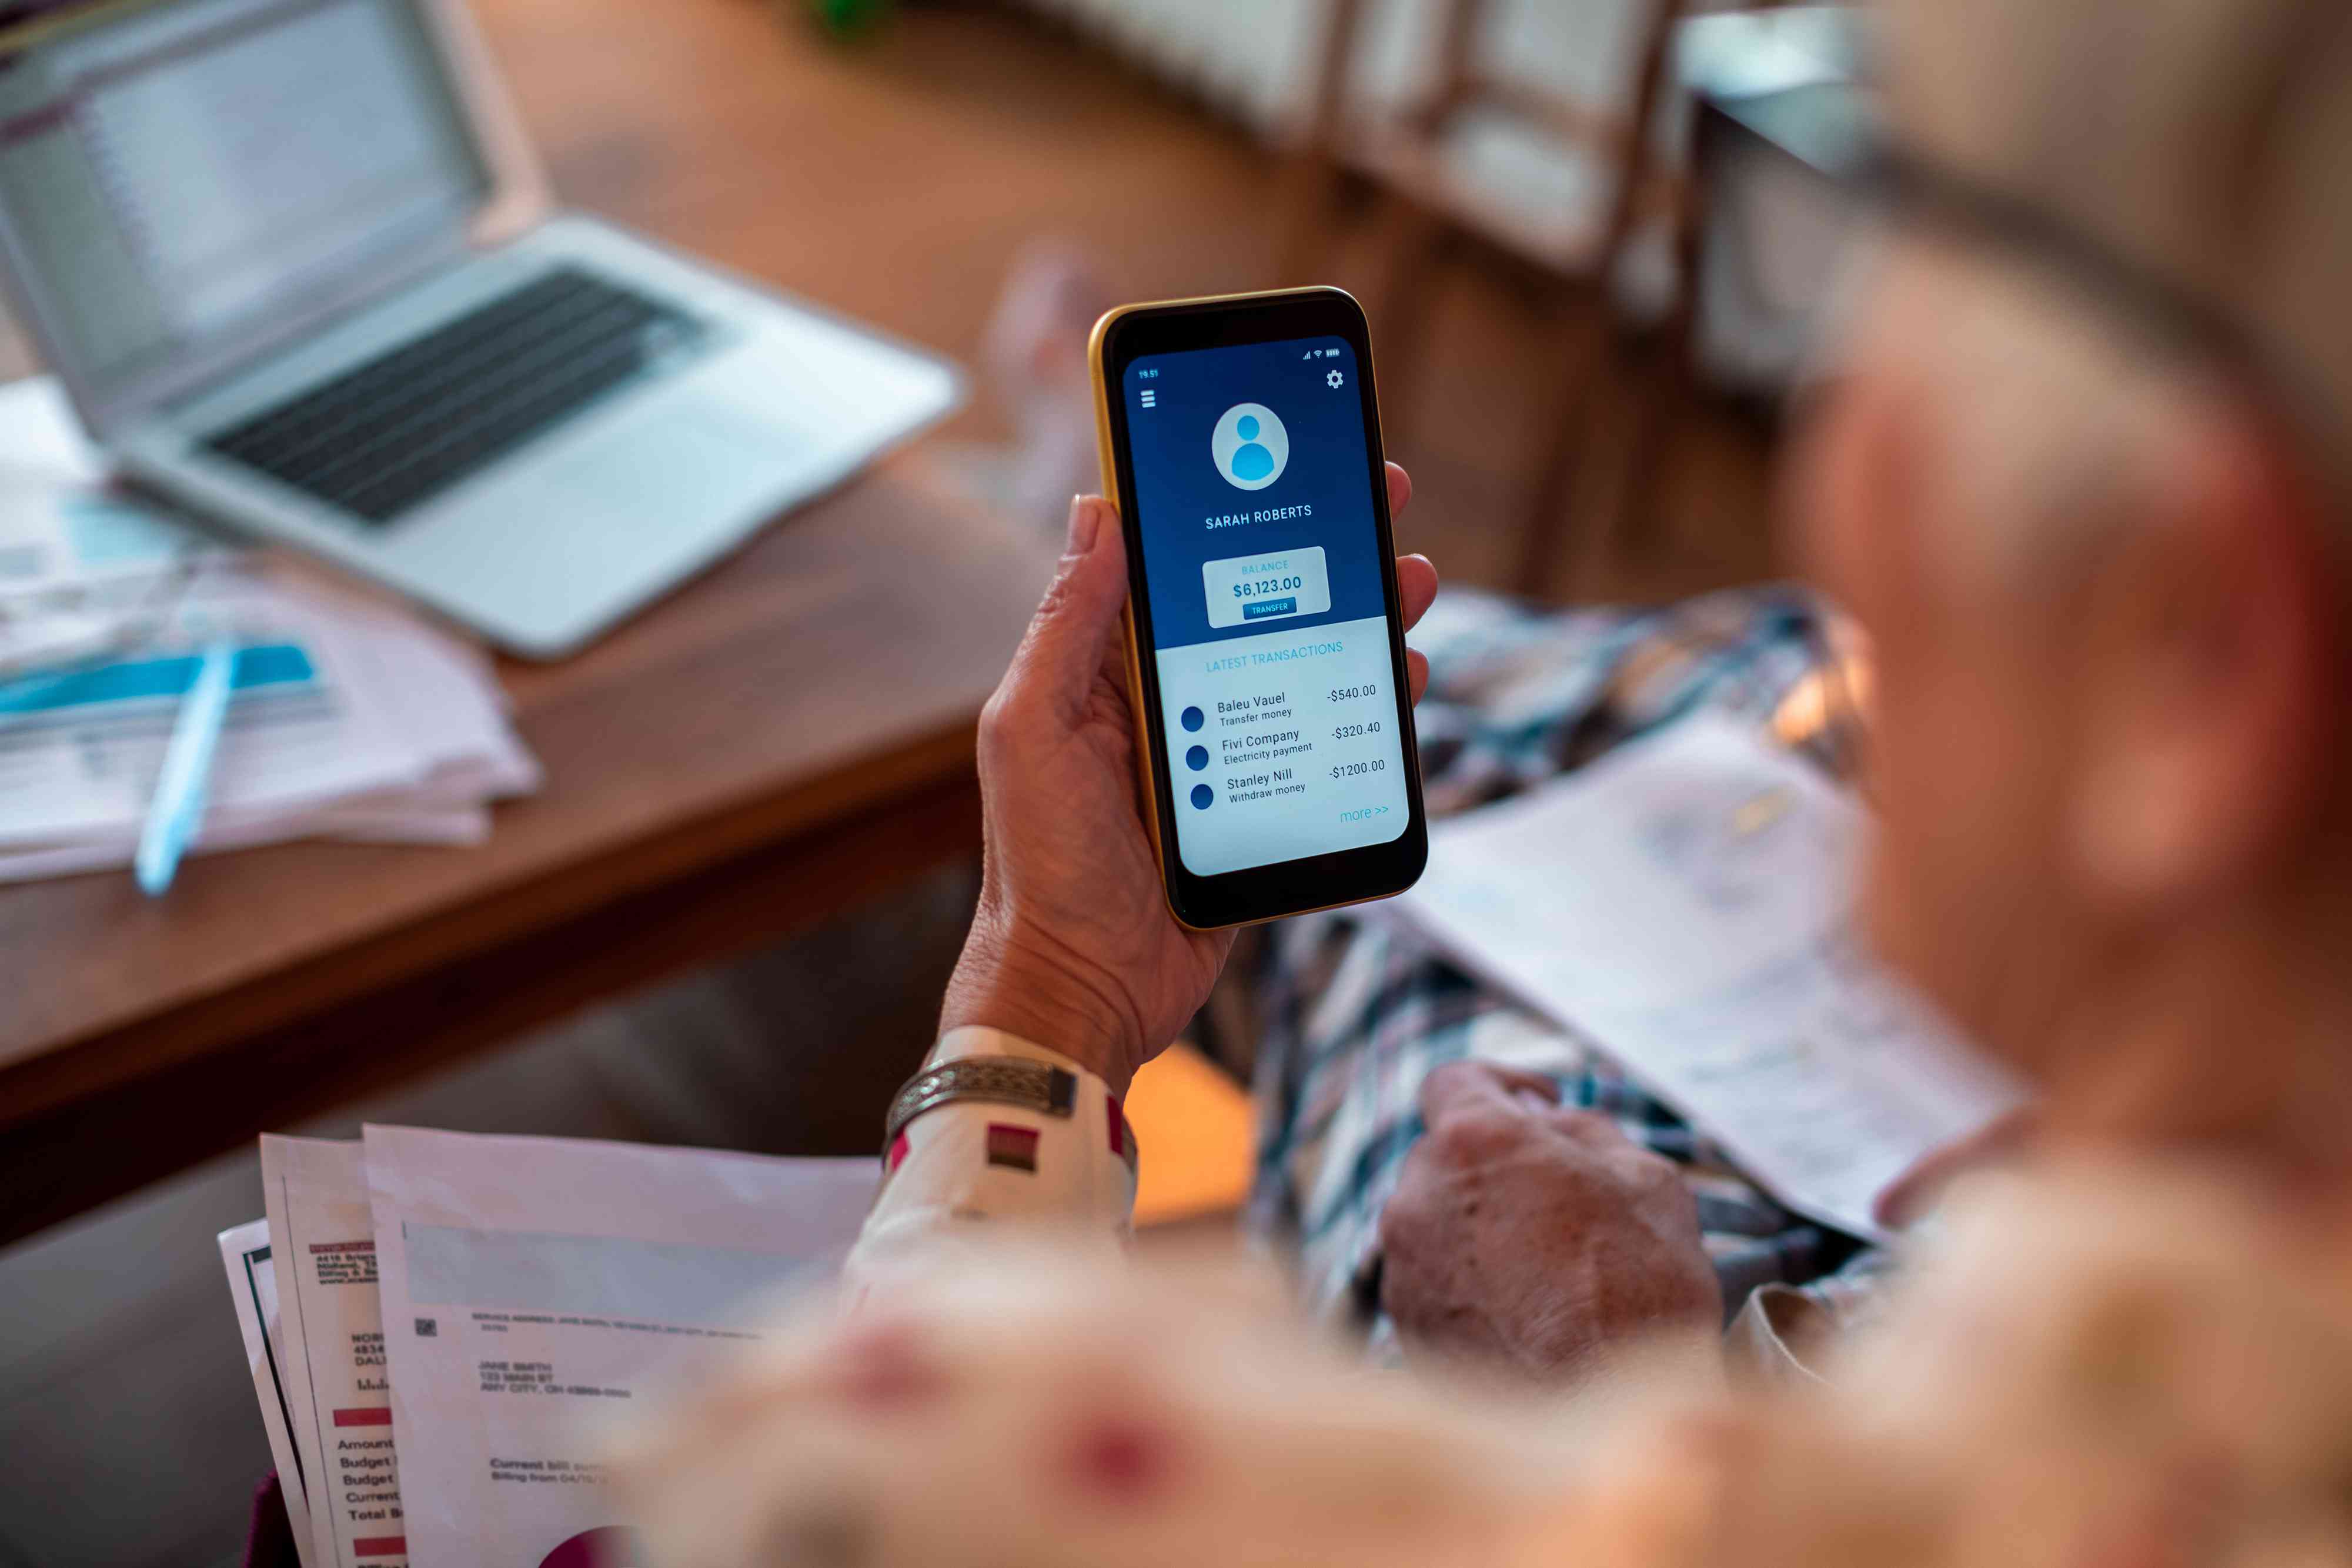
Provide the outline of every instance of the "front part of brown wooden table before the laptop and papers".
[[501,665],[548,783],[487,846],[0,889],[0,1241],[967,853],[974,719],[1049,567],[901,458]]

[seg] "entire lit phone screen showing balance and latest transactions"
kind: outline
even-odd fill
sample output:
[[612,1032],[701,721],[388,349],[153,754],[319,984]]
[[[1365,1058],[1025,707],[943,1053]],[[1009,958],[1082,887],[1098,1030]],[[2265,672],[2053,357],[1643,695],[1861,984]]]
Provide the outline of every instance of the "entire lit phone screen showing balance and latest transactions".
[[1404,837],[1371,454],[1341,339],[1127,367],[1176,853],[1197,877]]

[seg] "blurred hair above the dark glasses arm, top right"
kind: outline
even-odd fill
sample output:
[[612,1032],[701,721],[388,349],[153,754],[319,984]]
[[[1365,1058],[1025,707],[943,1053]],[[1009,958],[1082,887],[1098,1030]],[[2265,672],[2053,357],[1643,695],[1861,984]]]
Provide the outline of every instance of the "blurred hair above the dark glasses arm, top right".
[[2352,444],[2352,5],[1886,0],[1919,155],[2246,331],[2317,461]]

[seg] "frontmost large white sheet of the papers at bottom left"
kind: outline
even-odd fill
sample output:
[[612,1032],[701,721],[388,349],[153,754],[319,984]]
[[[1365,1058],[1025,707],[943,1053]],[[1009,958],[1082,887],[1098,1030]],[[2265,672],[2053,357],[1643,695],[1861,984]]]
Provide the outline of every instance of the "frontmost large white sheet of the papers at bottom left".
[[[873,1159],[367,1128],[393,1434],[419,1568],[586,1561],[597,1462],[837,1267]],[[583,1540],[586,1537],[586,1540]]]

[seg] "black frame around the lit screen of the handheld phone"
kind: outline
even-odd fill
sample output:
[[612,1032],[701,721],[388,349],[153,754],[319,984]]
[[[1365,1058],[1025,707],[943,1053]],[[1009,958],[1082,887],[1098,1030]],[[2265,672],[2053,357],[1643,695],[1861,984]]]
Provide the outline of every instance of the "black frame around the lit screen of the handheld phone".
[[[1364,418],[1371,517],[1378,531],[1381,592],[1388,602],[1390,691],[1406,701],[1392,703],[1404,750],[1404,792],[1409,820],[1388,844],[1341,849],[1298,860],[1277,860],[1216,877],[1185,870],[1176,851],[1176,792],[1171,783],[1167,726],[1160,715],[1160,668],[1152,658],[1150,592],[1145,592],[1143,536],[1136,508],[1134,451],[1127,433],[1127,367],[1136,360],[1200,348],[1240,348],[1287,339],[1345,339],[1357,362],[1357,404]],[[1148,306],[1122,313],[1103,334],[1101,350],[1103,407],[1110,425],[1112,473],[1117,475],[1120,524],[1127,536],[1127,604],[1136,635],[1136,682],[1143,712],[1136,724],[1145,736],[1152,769],[1152,804],[1160,816],[1160,879],[1169,910],[1195,929],[1247,926],[1284,914],[1327,910],[1367,898],[1390,898],[1414,886],[1430,858],[1428,816],[1421,804],[1421,750],[1414,733],[1409,670],[1404,663],[1404,614],[1397,602],[1397,545],[1388,515],[1388,454],[1381,442],[1381,404],[1374,386],[1371,331],[1362,306],[1343,289],[1296,289],[1270,296],[1209,299],[1174,306]]]

